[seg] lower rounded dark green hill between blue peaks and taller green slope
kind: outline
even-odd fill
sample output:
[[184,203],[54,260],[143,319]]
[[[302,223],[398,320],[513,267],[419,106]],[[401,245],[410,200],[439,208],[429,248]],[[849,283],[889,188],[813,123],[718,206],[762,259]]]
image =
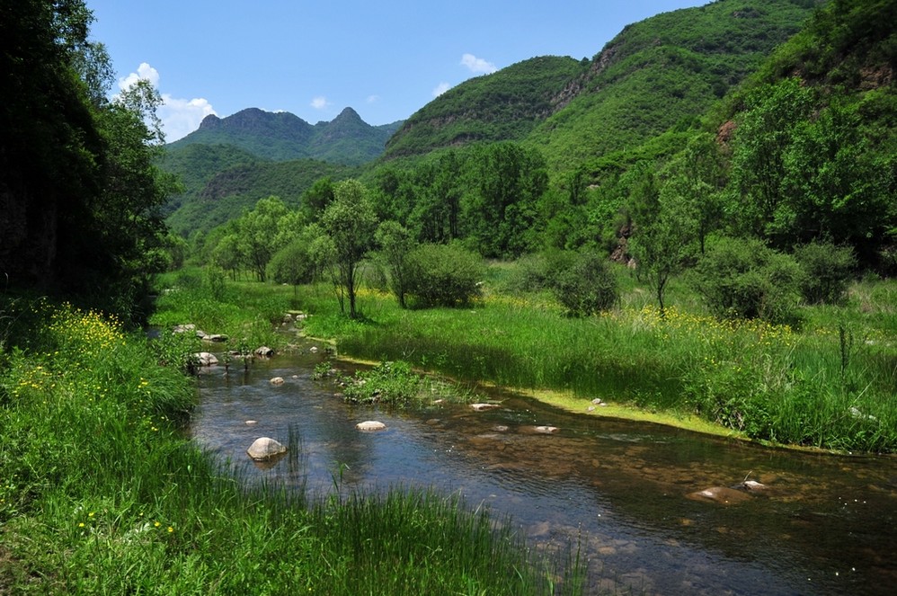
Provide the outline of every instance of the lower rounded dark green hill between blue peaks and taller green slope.
[[442,93],[406,120],[386,158],[420,156],[472,141],[520,140],[569,101],[584,66],[573,58],[531,58]]

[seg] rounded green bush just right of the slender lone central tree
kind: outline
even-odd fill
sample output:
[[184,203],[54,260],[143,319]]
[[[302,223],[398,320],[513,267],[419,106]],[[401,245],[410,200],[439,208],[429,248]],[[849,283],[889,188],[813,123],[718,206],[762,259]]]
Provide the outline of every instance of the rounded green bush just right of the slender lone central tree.
[[460,245],[420,245],[407,265],[408,293],[419,306],[457,307],[480,295],[483,260]]

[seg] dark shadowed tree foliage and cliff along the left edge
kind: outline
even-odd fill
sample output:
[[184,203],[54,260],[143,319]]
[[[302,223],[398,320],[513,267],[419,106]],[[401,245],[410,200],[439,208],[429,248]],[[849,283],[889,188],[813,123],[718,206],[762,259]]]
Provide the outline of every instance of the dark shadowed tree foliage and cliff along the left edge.
[[79,0],[18,3],[2,21],[0,269],[139,320],[166,264],[161,98],[146,81],[107,98],[110,58]]

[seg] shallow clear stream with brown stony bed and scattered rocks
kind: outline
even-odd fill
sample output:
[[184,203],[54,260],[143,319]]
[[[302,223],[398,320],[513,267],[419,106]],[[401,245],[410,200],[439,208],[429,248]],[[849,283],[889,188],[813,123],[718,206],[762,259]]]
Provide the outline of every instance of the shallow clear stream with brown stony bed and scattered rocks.
[[[397,411],[345,404],[313,378],[322,351],[200,375],[192,432],[244,472],[312,494],[431,487],[511,516],[544,545],[581,545],[591,591],[649,594],[892,594],[897,458],[807,454],[651,423],[570,414],[489,391],[501,407]],[[283,385],[270,379],[282,377]],[[360,432],[365,420],[385,431]],[[247,424],[247,421],[256,421]],[[536,426],[558,430],[542,433]],[[297,474],[255,467],[258,437],[301,441]],[[301,477],[297,477],[301,476]],[[700,494],[750,480],[752,492]]]

